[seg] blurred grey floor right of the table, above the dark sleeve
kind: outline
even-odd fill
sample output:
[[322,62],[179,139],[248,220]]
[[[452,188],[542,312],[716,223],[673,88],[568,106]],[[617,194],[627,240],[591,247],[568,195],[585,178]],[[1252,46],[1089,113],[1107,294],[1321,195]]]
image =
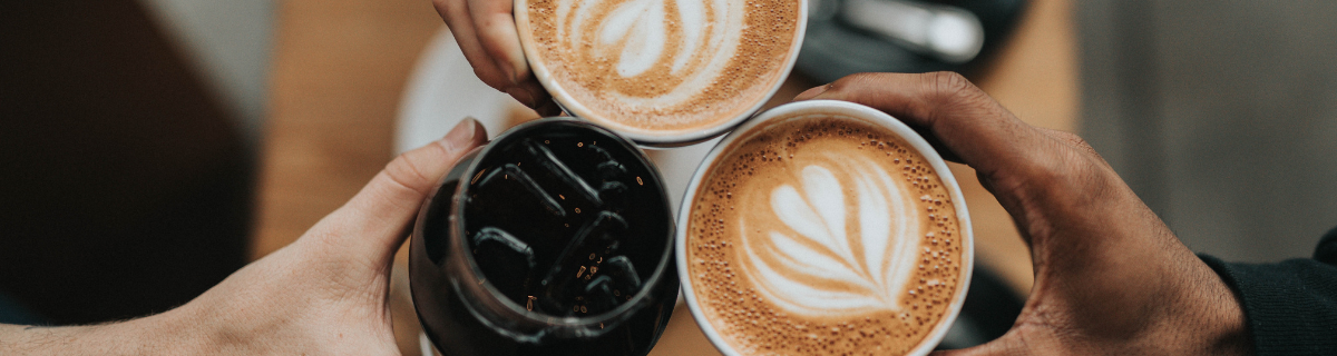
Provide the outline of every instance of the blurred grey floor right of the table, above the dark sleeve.
[[1191,249],[1337,227],[1337,1],[1078,1],[1082,135]]

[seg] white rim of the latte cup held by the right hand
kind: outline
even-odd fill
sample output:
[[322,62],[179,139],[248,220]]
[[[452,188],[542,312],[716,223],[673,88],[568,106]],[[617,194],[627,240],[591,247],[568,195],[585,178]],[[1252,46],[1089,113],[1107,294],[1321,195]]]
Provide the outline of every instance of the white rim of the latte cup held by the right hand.
[[937,153],[937,151],[933,149],[933,147],[929,145],[923,136],[915,132],[915,129],[912,129],[910,127],[901,123],[898,119],[892,117],[885,112],[848,101],[808,100],[808,101],[783,104],[773,109],[769,109],[766,112],[762,112],[757,115],[755,119],[747,121],[738,129],[730,132],[729,136],[725,136],[725,139],[721,140],[719,144],[717,144],[714,148],[711,148],[710,153],[707,153],[706,157],[701,161],[701,164],[697,167],[697,171],[693,173],[691,180],[689,180],[687,191],[683,193],[683,199],[679,204],[678,232],[675,235],[675,245],[674,245],[674,252],[677,253],[678,259],[678,279],[681,280],[679,288],[682,289],[683,299],[686,300],[687,304],[687,309],[691,312],[693,320],[697,323],[697,325],[701,327],[702,333],[706,335],[706,339],[709,339],[710,343],[714,344],[715,349],[719,349],[719,352],[722,352],[723,355],[742,356],[742,353],[735,351],[733,345],[725,341],[723,337],[719,336],[719,332],[715,331],[715,327],[702,312],[701,305],[698,304],[697,300],[697,293],[691,285],[691,275],[687,272],[687,233],[690,231],[687,228],[689,227],[687,223],[691,219],[693,200],[697,197],[697,191],[699,189],[699,185],[705,175],[709,173],[710,167],[715,163],[715,160],[721,155],[725,153],[725,151],[730,148],[730,145],[734,141],[750,139],[751,136],[755,135],[755,132],[750,132],[754,128],[778,124],[787,120],[801,120],[802,119],[800,117],[801,115],[816,111],[834,112],[869,124],[885,127],[890,129],[893,133],[901,136],[901,139],[909,143],[910,147],[913,147],[915,149],[919,149],[920,155],[923,155],[925,159],[929,160],[929,164],[933,167],[939,177],[943,180],[943,185],[948,188],[947,191],[952,196],[952,205],[953,208],[956,208],[956,216],[961,227],[960,233],[963,236],[961,239],[963,245],[965,245],[965,248],[961,249],[961,281],[960,284],[957,284],[956,293],[952,297],[952,303],[949,304],[944,316],[939,319],[937,321],[939,324],[933,328],[933,332],[927,335],[917,347],[915,347],[913,349],[910,349],[909,353],[906,353],[906,355],[920,355],[920,356],[928,355],[929,352],[933,351],[935,347],[937,347],[939,343],[943,341],[943,337],[947,336],[947,331],[951,329],[951,324],[955,323],[956,319],[960,316],[961,305],[965,304],[965,293],[968,292],[971,285],[971,276],[973,275],[975,232],[971,228],[971,217],[969,212],[965,208],[965,197],[961,193],[960,184],[956,181],[956,177],[952,175],[952,171],[947,167],[947,161],[943,160],[943,157]]

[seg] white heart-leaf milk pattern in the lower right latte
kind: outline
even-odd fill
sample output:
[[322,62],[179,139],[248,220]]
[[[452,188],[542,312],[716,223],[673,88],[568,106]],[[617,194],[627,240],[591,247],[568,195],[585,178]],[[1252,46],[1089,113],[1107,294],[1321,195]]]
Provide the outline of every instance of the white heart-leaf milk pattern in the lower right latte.
[[[919,211],[901,195],[901,187],[876,163],[862,156],[830,155],[848,172],[858,196],[858,231],[845,228],[842,184],[822,165],[802,168],[802,185],[777,187],[770,208],[789,229],[771,229],[769,245],[749,243],[743,249],[757,268],[757,284],[777,305],[796,313],[830,316],[865,313],[869,309],[898,311],[898,295],[915,265],[915,245],[921,235]],[[841,161],[844,160],[844,161]],[[852,201],[856,203],[856,201]],[[747,233],[746,221],[739,221]],[[852,247],[861,247],[856,256]],[[765,255],[765,257],[763,257]],[[841,284],[813,284],[826,279]]]

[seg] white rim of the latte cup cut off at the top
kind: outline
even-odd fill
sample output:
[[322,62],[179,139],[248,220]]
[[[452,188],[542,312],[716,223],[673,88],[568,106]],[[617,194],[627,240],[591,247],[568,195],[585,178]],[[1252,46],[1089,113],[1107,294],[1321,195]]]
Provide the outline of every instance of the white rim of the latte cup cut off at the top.
[[610,131],[618,132],[639,145],[663,148],[691,145],[710,140],[721,133],[733,131],[747,119],[755,116],[757,112],[766,105],[766,101],[779,92],[779,87],[785,84],[785,80],[787,80],[789,75],[794,71],[794,64],[798,61],[798,51],[802,48],[804,36],[808,33],[808,0],[798,0],[794,41],[790,44],[789,56],[786,56],[782,65],[783,71],[781,71],[779,76],[775,77],[775,81],[770,84],[770,89],[766,91],[765,96],[761,96],[757,103],[753,103],[753,105],[746,111],[739,112],[738,116],[723,120],[718,125],[698,129],[673,131],[675,133],[671,135],[656,135],[647,129],[630,127],[603,117],[594,117],[590,115],[591,111],[586,105],[571,99],[567,89],[552,79],[552,71],[550,71],[548,67],[537,57],[537,51],[533,48],[533,33],[528,31],[529,12],[523,11],[527,8],[529,8],[529,0],[515,0],[512,16],[515,17],[516,32],[520,35],[520,48],[521,52],[524,52],[524,60],[529,64],[529,69],[539,79],[539,84],[541,84],[543,88],[552,95],[552,100],[558,103],[558,107],[562,107],[562,109],[571,116],[607,127]]

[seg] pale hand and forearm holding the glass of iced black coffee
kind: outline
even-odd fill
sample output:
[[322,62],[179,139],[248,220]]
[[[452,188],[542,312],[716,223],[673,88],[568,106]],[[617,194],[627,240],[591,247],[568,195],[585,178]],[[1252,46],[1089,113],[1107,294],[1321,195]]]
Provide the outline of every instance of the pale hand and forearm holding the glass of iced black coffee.
[[397,355],[394,252],[433,185],[485,140],[483,125],[464,120],[400,155],[297,241],[186,305],[92,327],[0,325],[0,355]]

